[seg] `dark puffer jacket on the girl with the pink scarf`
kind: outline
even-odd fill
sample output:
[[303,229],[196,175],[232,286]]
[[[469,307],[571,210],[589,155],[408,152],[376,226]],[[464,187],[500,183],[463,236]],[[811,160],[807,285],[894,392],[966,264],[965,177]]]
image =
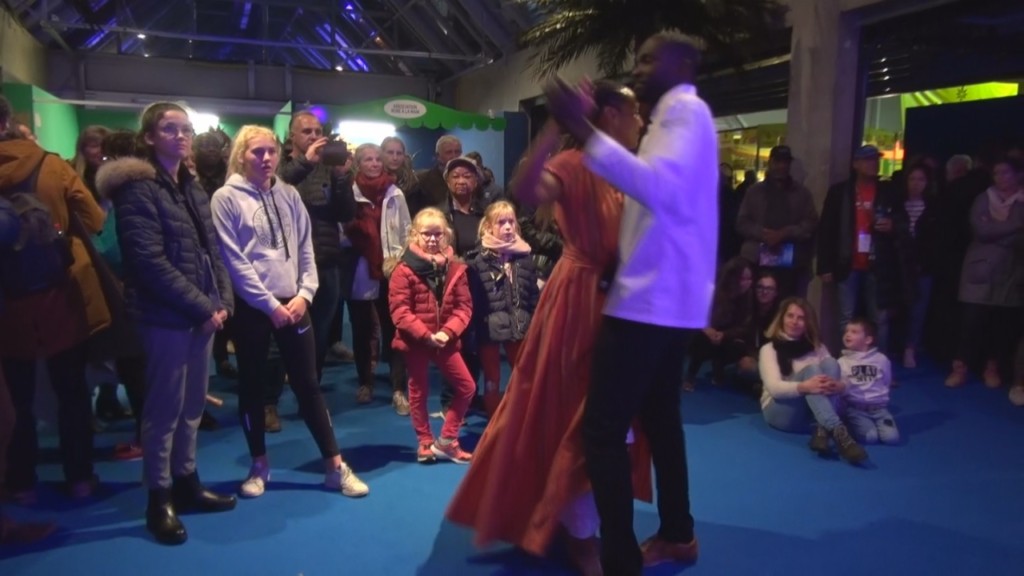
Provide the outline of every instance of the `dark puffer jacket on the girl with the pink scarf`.
[[526,336],[541,291],[537,269],[528,256],[510,260],[511,278],[498,254],[473,250],[466,255],[473,295],[473,328],[477,341],[507,342]]

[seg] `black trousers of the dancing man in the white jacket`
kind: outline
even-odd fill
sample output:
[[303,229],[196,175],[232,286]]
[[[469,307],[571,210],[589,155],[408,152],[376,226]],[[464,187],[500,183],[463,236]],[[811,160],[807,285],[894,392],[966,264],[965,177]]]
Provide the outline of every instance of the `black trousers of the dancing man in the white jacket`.
[[605,574],[640,574],[643,559],[633,533],[633,482],[626,437],[639,416],[650,442],[657,488],[658,536],[693,539],[686,444],[679,408],[682,364],[691,331],[605,316],[594,345],[584,406],[587,474],[601,519]]

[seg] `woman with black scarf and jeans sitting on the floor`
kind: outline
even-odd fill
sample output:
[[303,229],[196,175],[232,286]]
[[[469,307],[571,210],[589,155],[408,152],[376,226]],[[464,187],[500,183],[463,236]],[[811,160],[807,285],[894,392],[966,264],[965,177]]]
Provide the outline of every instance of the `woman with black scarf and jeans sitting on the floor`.
[[818,337],[814,308],[803,298],[787,298],[765,336],[758,362],[764,392],[761,411],[768,425],[784,431],[806,433],[814,427],[811,450],[828,452],[836,442],[843,458],[858,462],[867,457],[846,429],[836,411],[842,395],[839,363]]

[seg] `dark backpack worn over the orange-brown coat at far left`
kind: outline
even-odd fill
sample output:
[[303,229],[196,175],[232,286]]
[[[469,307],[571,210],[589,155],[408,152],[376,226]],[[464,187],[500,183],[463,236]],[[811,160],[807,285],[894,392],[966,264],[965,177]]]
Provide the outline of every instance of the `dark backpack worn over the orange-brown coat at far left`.
[[74,261],[71,239],[53,219],[49,207],[36,194],[44,154],[28,178],[0,190],[17,214],[19,234],[13,246],[0,249],[0,291],[20,298],[60,286],[70,278]]

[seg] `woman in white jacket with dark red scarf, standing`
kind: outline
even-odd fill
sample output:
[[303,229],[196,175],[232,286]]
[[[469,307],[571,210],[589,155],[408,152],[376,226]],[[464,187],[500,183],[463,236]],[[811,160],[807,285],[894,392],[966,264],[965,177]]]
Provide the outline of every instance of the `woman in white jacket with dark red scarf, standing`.
[[390,367],[391,405],[399,415],[408,416],[406,363],[401,353],[391,349],[394,323],[388,310],[387,276],[406,249],[412,219],[404,194],[394,184],[394,176],[384,170],[379,146],[365,143],[355,149],[352,193],[356,204],[355,219],[344,225],[344,232],[359,255],[348,304],[352,352],[359,378],[355,399],[359,404],[373,402],[375,355],[371,345],[376,312],[381,327],[381,359]]

